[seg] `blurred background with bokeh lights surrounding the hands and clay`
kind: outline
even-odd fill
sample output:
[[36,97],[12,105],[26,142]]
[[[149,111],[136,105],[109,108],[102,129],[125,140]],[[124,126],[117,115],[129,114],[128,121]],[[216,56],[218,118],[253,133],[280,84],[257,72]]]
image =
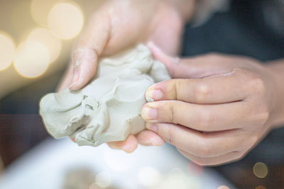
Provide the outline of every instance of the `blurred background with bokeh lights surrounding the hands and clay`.
[[[283,129],[245,159],[214,169],[192,164],[170,145],[127,155],[48,136],[38,101],[55,91],[84,23],[103,2],[0,0],[0,188],[284,188]],[[261,10],[256,3],[234,1],[231,7],[198,27],[188,24],[182,55],[283,57],[283,38],[271,37],[256,21],[261,15],[248,11]]]

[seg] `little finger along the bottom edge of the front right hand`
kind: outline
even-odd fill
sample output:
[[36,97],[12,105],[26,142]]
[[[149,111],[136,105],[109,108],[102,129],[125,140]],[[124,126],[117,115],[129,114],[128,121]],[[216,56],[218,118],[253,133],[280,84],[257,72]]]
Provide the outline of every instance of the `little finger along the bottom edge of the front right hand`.
[[181,154],[186,156],[191,161],[195,162],[195,164],[198,164],[200,166],[217,166],[217,165],[229,163],[232,161],[237,161],[243,157],[243,153],[240,151],[231,151],[222,156],[209,157],[209,158],[197,157],[182,149],[178,149],[178,151],[180,151]]

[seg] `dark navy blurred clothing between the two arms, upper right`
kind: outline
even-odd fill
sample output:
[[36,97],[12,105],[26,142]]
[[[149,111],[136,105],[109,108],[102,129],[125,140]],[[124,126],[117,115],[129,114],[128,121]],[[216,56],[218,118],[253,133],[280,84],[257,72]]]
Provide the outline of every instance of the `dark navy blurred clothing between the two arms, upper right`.
[[229,12],[216,13],[198,28],[187,25],[182,56],[222,52],[261,61],[284,57],[284,35],[268,27],[260,2],[233,1]]

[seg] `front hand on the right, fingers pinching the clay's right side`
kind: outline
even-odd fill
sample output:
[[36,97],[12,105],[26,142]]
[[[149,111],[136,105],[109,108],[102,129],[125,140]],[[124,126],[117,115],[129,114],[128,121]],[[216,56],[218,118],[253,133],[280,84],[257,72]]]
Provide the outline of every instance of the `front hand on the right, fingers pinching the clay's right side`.
[[283,98],[279,82],[255,59],[213,54],[178,59],[153,45],[151,50],[174,79],[148,88],[154,102],[141,111],[147,132],[153,131],[148,140],[163,139],[197,164],[217,165],[244,157],[275,124]]

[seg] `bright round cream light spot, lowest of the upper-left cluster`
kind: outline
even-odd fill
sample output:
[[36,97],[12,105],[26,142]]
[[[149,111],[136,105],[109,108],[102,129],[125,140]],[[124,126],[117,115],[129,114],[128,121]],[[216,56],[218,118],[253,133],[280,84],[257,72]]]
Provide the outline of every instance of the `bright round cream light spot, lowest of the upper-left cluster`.
[[40,76],[48,68],[50,57],[47,48],[40,42],[26,41],[18,46],[14,67],[22,76]]

